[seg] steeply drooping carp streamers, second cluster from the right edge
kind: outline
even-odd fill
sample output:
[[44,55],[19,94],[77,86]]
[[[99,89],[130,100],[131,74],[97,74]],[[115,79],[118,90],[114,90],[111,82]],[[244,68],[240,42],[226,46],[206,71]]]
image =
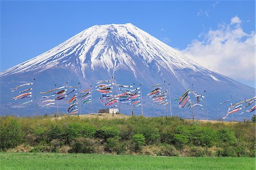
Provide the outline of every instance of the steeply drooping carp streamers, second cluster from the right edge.
[[196,91],[192,91],[192,94],[194,97],[196,97],[196,102],[192,103],[190,95],[191,89],[188,89],[185,93],[182,94],[179,98],[175,99],[175,102],[179,103],[179,108],[188,107],[191,109],[195,106],[201,106],[199,109],[203,109],[203,105],[201,105],[199,102],[203,100],[204,96],[201,94],[197,94]]

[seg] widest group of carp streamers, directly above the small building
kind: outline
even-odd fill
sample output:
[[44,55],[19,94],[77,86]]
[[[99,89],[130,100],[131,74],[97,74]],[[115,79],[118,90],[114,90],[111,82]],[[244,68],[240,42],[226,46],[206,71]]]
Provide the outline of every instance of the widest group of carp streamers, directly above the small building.
[[[136,107],[141,105],[141,92],[139,91],[140,88],[133,88],[131,85],[121,85],[121,84],[102,84],[102,83],[108,83],[110,80],[101,80],[97,82],[96,90],[101,93],[100,99],[102,99],[101,102],[105,102],[105,107],[115,107],[115,103],[122,102],[127,103],[129,105],[133,105]],[[113,95],[112,90],[113,86],[118,86],[121,93]]]

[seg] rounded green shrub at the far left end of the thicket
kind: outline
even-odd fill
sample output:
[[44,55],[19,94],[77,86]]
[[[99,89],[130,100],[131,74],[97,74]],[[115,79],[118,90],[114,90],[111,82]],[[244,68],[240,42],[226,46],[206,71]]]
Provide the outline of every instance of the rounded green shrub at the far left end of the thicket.
[[13,117],[0,119],[0,149],[6,150],[22,142],[22,128]]

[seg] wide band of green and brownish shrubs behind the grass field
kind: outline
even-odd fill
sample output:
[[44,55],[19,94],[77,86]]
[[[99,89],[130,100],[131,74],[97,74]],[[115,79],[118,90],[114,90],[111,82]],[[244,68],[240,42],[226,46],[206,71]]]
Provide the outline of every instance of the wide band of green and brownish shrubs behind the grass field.
[[0,117],[0,151],[254,157],[255,117],[241,123]]

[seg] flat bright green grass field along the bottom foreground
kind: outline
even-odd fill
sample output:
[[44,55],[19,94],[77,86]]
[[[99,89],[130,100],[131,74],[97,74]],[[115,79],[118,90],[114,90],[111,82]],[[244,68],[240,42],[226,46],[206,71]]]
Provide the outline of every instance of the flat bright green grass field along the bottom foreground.
[[255,158],[1,153],[0,169],[255,169]]

